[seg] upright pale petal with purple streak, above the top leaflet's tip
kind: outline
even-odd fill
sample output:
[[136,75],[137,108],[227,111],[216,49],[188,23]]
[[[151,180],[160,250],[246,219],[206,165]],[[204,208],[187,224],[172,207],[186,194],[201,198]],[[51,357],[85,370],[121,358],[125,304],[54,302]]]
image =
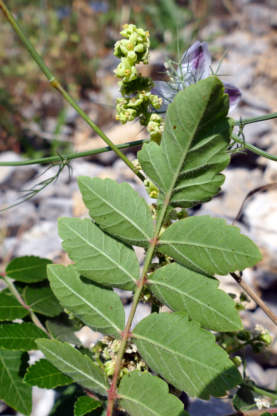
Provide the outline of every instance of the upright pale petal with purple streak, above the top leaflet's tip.
[[[182,74],[188,74],[185,77],[185,85],[195,84],[200,79],[207,78],[210,72],[212,58],[207,42],[195,42],[184,54],[181,59]],[[177,74],[181,76],[180,68]]]

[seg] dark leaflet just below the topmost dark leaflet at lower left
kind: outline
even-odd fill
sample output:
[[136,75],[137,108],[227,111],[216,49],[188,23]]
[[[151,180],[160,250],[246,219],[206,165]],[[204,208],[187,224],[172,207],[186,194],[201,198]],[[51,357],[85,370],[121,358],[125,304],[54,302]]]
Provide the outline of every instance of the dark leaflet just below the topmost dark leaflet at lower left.
[[50,286],[27,286],[23,291],[23,297],[27,305],[29,305],[34,312],[38,312],[42,315],[54,317],[63,311],[63,307],[60,305]]

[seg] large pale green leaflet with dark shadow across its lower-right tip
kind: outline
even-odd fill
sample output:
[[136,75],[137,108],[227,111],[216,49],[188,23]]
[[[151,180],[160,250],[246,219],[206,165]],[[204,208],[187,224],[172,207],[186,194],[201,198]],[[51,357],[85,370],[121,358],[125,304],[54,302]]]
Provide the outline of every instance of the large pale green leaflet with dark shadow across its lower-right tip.
[[214,335],[185,313],[153,313],[137,324],[132,338],[148,366],[189,396],[225,396],[242,380]]

